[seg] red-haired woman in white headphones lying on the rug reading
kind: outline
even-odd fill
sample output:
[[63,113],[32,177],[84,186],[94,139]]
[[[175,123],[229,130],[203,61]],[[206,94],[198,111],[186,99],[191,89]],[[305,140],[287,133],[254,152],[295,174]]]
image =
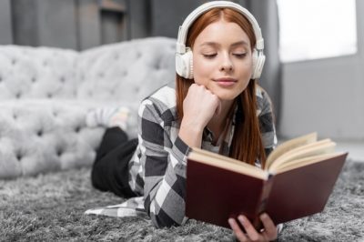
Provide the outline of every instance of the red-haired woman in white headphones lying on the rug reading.
[[[133,197],[128,207],[144,208],[156,227],[170,227],[187,221],[191,147],[264,166],[277,141],[268,95],[256,83],[262,49],[258,24],[240,5],[214,1],[188,15],[178,33],[176,84],[141,103],[137,140],[126,141],[118,127],[106,131],[93,185]],[[244,216],[228,222],[241,241],[275,239],[277,227],[267,214],[260,218],[262,231]]]

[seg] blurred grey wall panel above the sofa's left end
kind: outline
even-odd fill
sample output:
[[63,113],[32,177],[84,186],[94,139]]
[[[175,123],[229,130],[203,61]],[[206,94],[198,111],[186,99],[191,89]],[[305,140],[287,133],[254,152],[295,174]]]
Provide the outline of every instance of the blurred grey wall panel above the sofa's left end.
[[12,0],[16,45],[76,48],[74,0]]

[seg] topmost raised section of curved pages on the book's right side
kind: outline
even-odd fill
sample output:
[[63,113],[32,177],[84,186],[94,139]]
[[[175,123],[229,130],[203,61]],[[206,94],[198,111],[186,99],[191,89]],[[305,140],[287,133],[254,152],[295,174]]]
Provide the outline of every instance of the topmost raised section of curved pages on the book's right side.
[[310,133],[306,136],[298,136],[296,138],[290,139],[282,143],[281,145],[277,146],[277,148],[274,149],[268,156],[266,160],[266,169],[269,168],[269,166],[272,164],[274,160],[278,158],[278,156],[282,156],[289,150],[297,148],[298,146],[304,146],[313,143],[317,140],[318,140],[318,134],[315,132],[315,133]]

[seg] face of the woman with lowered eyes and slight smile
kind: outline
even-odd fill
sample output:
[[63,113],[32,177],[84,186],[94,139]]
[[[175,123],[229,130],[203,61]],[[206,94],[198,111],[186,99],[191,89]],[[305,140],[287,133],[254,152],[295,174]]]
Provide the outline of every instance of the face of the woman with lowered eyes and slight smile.
[[193,45],[194,79],[221,100],[233,100],[248,86],[252,55],[248,35],[220,19],[197,35]]

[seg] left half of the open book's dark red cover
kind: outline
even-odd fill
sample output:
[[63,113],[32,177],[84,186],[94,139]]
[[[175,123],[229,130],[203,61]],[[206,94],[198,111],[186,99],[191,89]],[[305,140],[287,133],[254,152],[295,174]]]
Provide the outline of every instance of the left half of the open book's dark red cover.
[[264,180],[187,161],[186,216],[221,227],[244,214],[256,217]]

